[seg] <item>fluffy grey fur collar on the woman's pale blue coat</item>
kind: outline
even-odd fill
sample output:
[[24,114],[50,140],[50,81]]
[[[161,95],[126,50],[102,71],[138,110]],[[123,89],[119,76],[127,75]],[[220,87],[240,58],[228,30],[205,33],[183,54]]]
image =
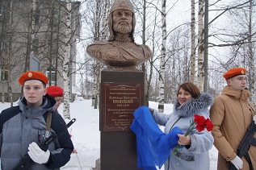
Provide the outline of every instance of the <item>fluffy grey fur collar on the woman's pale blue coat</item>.
[[174,102],[174,114],[179,117],[188,117],[199,114],[200,110],[207,109],[212,106],[213,97],[209,93],[201,93],[198,98],[192,98],[191,101],[180,105],[178,100]]

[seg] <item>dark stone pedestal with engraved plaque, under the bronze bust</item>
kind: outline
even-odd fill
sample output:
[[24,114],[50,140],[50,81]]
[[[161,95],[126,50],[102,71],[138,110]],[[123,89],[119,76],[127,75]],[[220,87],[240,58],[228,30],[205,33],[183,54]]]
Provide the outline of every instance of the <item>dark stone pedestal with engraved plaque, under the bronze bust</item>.
[[144,105],[141,70],[105,68],[100,84],[101,169],[136,170],[136,135],[130,130],[133,112]]

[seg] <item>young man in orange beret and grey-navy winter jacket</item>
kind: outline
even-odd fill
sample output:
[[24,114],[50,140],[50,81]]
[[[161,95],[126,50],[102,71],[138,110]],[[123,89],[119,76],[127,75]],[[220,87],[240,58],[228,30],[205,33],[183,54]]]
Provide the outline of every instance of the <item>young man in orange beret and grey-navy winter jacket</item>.
[[[37,145],[47,139],[47,131],[57,134],[65,125],[61,115],[54,114],[56,101],[46,93],[48,78],[44,73],[27,71],[19,77],[19,84],[23,85],[24,96],[18,106],[2,110],[0,114],[1,168],[15,168],[28,154],[33,160],[31,170],[60,169],[70,160],[73,151],[69,132],[65,131],[50,143],[47,151]],[[50,124],[48,115],[52,115]]]

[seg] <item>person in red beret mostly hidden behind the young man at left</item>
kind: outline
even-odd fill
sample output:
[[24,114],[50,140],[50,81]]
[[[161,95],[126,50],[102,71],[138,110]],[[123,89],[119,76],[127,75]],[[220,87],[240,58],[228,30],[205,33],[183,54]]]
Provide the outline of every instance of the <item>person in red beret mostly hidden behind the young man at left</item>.
[[[57,86],[57,85],[52,85],[52,86],[48,86],[47,93],[48,93],[48,95],[55,98],[55,100],[57,102],[55,111],[57,113],[59,113],[58,108],[61,105],[61,100],[64,96],[63,89],[61,87]],[[71,138],[72,135],[70,133],[69,133],[69,135],[70,135],[70,138]],[[76,149],[73,149],[72,153],[78,153],[78,151]]]

